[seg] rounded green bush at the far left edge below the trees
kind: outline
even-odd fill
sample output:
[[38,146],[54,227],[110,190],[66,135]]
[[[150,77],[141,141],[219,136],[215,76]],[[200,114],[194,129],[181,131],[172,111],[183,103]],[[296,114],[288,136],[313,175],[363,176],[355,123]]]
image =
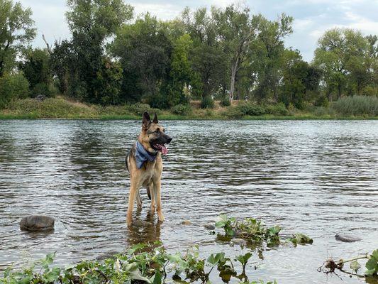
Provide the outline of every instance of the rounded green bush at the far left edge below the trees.
[[5,74],[0,78],[0,108],[12,99],[25,99],[29,95],[29,83],[22,73]]

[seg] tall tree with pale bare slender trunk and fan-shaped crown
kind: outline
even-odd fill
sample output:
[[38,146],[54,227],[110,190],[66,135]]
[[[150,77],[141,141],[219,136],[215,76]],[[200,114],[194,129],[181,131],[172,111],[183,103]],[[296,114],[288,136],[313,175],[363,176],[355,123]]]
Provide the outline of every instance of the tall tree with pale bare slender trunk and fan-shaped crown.
[[235,78],[246,58],[250,43],[257,35],[257,21],[250,15],[250,9],[230,5],[226,9],[213,7],[212,15],[216,21],[218,34],[224,50],[230,56],[230,102],[235,92]]

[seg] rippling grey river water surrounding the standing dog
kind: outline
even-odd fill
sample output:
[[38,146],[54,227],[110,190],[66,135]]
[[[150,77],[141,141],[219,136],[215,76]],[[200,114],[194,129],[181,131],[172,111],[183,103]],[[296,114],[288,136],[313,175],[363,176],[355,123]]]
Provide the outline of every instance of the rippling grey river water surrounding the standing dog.
[[[174,138],[162,177],[166,221],[156,224],[156,217],[148,216],[148,197],[141,190],[143,210],[135,219],[153,224],[128,229],[124,157],[139,121],[0,121],[0,271],[52,251],[64,266],[153,240],[170,251],[198,244],[204,256],[218,251],[232,256],[240,247],[215,241],[203,227],[227,213],[313,237],[313,245],[267,249],[260,258],[255,252],[251,280],[365,282],[316,268],[327,256],[350,258],[378,249],[378,121],[166,121],[165,126]],[[55,231],[20,231],[18,222],[27,214],[55,217]],[[182,225],[184,219],[192,224]],[[362,241],[342,243],[335,240],[337,233]]]

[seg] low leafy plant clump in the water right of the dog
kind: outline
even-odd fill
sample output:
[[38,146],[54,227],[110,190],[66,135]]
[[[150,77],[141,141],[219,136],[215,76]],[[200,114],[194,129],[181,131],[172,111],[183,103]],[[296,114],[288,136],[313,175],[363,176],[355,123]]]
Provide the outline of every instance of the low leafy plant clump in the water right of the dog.
[[221,214],[216,221],[216,227],[224,229],[226,236],[242,238],[250,243],[266,241],[268,245],[274,245],[279,244],[283,239],[291,241],[294,245],[313,243],[313,239],[305,234],[279,234],[280,226],[266,227],[262,221],[254,218],[246,218],[239,222],[235,217]]

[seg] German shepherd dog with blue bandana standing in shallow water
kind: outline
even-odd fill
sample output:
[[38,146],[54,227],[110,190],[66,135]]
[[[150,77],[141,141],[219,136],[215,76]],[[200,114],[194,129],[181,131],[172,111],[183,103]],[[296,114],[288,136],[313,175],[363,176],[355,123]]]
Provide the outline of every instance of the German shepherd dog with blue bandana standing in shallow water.
[[151,200],[151,213],[157,211],[160,222],[164,221],[162,204],[160,200],[160,186],[162,177],[162,155],[167,155],[165,144],[169,144],[172,138],[165,134],[164,127],[157,121],[157,115],[151,121],[148,112],[143,113],[142,131],[138,141],[130,149],[126,156],[126,168],[130,173],[130,194],[128,196],[127,224],[133,223],[133,207],[135,198],[138,209],[142,208],[139,189],[146,187],[148,197]]

